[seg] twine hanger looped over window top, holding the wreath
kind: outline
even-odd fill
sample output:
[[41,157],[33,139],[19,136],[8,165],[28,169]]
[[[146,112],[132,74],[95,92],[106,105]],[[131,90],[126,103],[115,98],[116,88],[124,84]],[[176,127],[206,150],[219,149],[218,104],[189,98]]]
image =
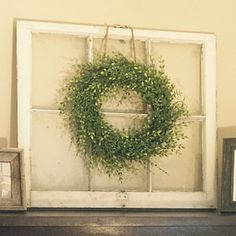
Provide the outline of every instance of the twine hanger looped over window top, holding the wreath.
[[135,47],[135,40],[134,40],[134,29],[130,26],[127,26],[127,25],[107,25],[106,33],[104,35],[104,38],[102,39],[102,45],[101,45],[101,50],[104,45],[103,54],[104,55],[107,54],[107,43],[108,43],[110,28],[130,29],[130,31],[131,31],[130,52],[131,52],[131,57],[133,57],[134,61],[136,62],[136,47]]

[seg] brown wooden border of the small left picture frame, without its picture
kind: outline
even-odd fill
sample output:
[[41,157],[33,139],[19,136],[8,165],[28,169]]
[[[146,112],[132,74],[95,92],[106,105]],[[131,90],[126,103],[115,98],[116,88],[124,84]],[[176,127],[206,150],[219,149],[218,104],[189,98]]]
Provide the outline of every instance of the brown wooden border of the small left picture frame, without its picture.
[[23,151],[0,149],[0,162],[10,163],[11,168],[11,198],[0,198],[0,211],[26,210]]

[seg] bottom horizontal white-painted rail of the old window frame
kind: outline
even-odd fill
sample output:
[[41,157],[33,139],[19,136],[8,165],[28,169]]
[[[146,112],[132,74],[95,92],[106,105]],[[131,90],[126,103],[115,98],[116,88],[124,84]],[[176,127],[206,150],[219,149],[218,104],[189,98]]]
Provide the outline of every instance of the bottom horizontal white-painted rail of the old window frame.
[[[184,204],[183,204],[184,202]],[[211,208],[214,200],[202,192],[31,191],[32,207],[62,208]]]

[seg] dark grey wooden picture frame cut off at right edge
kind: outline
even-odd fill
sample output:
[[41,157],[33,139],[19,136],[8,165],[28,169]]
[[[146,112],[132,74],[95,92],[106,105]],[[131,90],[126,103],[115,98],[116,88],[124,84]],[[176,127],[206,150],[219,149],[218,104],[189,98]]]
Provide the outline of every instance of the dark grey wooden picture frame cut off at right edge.
[[220,210],[236,212],[236,138],[223,140]]

